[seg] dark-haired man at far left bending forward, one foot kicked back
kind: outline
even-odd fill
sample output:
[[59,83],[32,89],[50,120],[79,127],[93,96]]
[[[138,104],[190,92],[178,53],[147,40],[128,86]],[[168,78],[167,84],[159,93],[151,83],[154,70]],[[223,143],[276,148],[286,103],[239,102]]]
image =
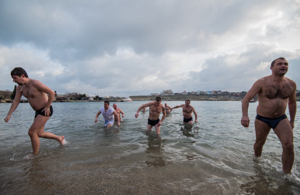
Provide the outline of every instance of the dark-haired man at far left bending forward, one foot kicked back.
[[[8,111],[4,121],[7,123],[11,118],[13,111],[20,103],[22,95],[27,98],[30,106],[35,110],[35,116],[31,127],[29,128],[28,135],[31,139],[33,154],[37,154],[40,148],[40,139],[55,139],[61,145],[64,143],[64,136],[57,136],[53,133],[44,132],[44,127],[48,119],[53,114],[51,103],[53,102],[55,92],[48,88],[46,85],[38,80],[30,79],[23,68],[14,68],[10,73],[12,81],[17,83],[16,96]],[[47,94],[49,96],[47,96]]]

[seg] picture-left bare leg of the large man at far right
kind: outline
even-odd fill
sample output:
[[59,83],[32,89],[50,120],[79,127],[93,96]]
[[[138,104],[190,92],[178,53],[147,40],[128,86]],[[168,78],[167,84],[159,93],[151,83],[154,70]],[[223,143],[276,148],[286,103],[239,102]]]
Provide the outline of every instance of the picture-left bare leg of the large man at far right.
[[255,124],[255,136],[256,136],[256,140],[253,145],[254,155],[261,156],[262,155],[262,147],[267,140],[267,136],[268,136],[271,128],[266,123],[264,123],[260,120],[257,120],[257,119],[255,119],[254,124]]

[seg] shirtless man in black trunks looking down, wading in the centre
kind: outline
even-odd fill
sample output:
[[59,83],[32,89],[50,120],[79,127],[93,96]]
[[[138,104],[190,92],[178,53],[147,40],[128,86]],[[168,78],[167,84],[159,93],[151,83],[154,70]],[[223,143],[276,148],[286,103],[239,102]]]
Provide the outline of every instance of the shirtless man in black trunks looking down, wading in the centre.
[[[138,113],[142,110],[142,108],[149,107],[149,117],[148,117],[148,132],[152,131],[152,127],[155,126],[156,134],[160,134],[160,126],[162,125],[163,120],[166,118],[166,110],[163,106],[162,98],[156,97],[155,101],[145,103],[138,108],[138,112],[135,114],[135,118],[138,118]],[[163,111],[163,117],[159,121],[159,115]]]

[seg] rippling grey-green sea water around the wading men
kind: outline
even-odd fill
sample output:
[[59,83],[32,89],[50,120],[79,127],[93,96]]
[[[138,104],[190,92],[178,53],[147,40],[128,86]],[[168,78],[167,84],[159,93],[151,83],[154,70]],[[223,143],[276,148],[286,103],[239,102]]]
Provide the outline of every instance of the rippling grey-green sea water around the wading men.
[[[182,108],[174,109],[159,136],[147,132],[148,109],[134,117],[144,103],[117,103],[124,121],[110,129],[105,129],[102,115],[94,122],[103,102],[53,103],[45,131],[63,135],[66,144],[40,138],[37,155],[32,155],[27,134],[35,111],[20,103],[5,123],[11,104],[1,103],[0,193],[300,194],[299,104],[294,166],[291,174],[284,174],[281,143],[272,130],[262,157],[254,156],[258,103],[249,104],[250,126],[244,128],[241,102],[192,101],[198,123],[183,124]],[[286,114],[289,118],[288,109]]]

